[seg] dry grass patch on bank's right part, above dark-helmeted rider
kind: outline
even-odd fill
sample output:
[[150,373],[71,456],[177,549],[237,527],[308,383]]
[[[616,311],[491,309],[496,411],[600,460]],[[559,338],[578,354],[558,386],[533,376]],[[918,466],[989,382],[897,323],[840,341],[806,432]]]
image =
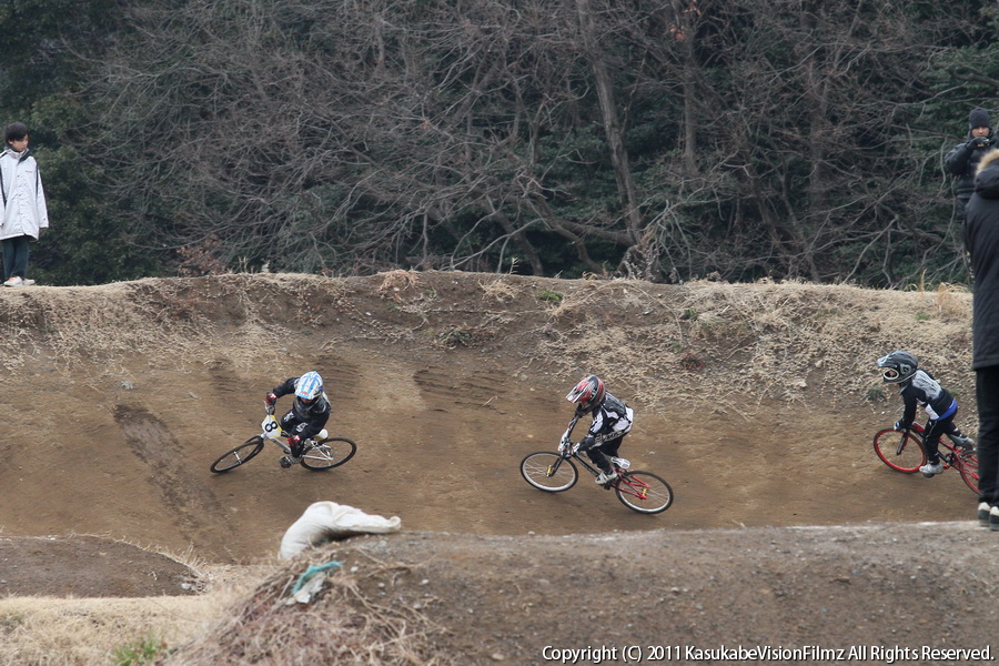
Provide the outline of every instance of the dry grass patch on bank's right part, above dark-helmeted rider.
[[[586,283],[551,316],[547,359],[624,384],[646,404],[751,397],[842,407],[880,386],[878,355],[907,349],[971,395],[970,294],[878,292],[803,283]],[[626,321],[627,325],[616,325]],[[640,362],[636,362],[640,360]],[[894,397],[894,396],[891,396]],[[969,405],[970,406],[970,405]]]

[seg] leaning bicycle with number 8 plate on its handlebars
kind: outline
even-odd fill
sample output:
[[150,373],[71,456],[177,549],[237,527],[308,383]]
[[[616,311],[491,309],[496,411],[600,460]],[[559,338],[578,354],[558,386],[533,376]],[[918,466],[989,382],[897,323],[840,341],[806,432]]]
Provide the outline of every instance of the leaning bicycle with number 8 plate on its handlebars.
[[[281,458],[281,466],[291,467],[294,464],[291,462],[291,446],[279,438],[287,437],[287,433],[281,431],[281,424],[270,411],[260,426],[262,432],[259,435],[250,437],[235,448],[222,454],[212,463],[211,471],[221,474],[250,462],[263,451],[268,442],[273,442],[284,451],[285,455]],[[306,470],[321,472],[339,467],[354,457],[355,453],[357,453],[357,445],[352,441],[346,437],[330,437],[329,433],[323,430],[315,437],[305,440],[302,456],[295,462],[301,463]]]

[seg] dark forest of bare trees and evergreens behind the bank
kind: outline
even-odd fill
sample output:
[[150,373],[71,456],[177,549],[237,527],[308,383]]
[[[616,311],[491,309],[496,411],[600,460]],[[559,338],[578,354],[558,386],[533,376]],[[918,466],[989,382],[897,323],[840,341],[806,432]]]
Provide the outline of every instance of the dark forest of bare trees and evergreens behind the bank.
[[43,284],[394,268],[967,282],[999,2],[3,0]]

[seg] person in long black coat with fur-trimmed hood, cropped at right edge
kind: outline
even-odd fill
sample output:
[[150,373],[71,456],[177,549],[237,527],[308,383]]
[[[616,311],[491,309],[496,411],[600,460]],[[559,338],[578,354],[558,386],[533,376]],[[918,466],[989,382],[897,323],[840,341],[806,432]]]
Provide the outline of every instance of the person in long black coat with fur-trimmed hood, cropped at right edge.
[[999,150],[989,151],[975,178],[965,219],[971,255],[975,396],[978,400],[978,519],[999,531]]

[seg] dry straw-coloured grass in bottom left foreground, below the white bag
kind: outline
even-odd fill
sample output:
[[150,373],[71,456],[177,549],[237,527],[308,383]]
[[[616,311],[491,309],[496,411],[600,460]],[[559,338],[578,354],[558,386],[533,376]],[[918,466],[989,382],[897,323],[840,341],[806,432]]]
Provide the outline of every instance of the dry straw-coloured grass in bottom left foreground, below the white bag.
[[[314,557],[321,557],[315,552]],[[287,604],[303,558],[255,567],[206,567],[208,592],[148,598],[0,599],[0,664],[107,666],[149,646],[157,664],[451,664],[421,610],[380,606],[360,586],[391,581],[390,565],[361,579],[335,573],[309,604]],[[384,576],[384,578],[382,578]]]

